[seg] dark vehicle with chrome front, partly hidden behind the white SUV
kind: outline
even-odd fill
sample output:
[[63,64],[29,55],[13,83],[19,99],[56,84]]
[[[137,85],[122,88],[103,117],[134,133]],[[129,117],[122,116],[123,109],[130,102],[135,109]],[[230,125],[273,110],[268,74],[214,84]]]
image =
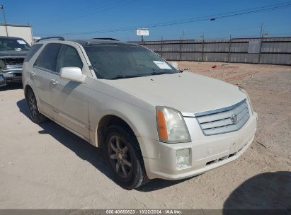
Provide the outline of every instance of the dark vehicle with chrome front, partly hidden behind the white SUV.
[[0,37],[0,86],[22,81],[22,65],[30,49],[19,37]]

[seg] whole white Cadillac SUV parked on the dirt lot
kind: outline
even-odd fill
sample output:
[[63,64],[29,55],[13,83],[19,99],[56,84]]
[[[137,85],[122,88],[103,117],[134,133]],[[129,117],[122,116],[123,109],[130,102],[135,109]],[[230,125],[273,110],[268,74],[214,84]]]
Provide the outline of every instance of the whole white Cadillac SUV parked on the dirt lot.
[[25,58],[23,89],[33,122],[50,118],[102,147],[128,190],[234,161],[256,132],[242,88],[110,38],[40,40]]

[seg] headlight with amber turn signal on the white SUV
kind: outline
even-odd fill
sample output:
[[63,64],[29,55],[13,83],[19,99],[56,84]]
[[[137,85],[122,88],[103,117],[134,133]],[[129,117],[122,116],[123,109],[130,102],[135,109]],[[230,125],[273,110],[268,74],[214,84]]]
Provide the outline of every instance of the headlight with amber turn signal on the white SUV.
[[190,142],[190,134],[181,112],[167,107],[156,107],[159,141],[166,143]]

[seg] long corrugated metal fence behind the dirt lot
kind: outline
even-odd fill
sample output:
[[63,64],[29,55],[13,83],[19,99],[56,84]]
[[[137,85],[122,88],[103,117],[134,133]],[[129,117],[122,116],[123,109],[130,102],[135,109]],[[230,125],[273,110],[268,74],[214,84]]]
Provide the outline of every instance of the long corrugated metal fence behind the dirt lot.
[[166,60],[291,65],[291,37],[135,42]]

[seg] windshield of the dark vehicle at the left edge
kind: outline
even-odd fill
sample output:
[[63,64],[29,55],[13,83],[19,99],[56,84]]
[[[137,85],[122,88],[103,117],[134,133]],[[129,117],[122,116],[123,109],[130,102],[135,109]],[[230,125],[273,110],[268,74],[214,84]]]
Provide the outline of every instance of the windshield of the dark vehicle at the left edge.
[[22,39],[0,38],[0,51],[28,51],[28,45]]

